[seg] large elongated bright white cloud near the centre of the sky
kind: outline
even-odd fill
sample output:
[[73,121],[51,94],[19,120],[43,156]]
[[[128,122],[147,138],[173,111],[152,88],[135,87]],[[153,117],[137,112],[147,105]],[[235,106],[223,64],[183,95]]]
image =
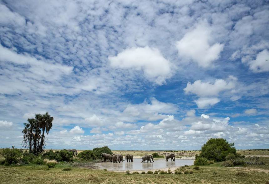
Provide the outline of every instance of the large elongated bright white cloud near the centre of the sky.
[[172,75],[170,61],[158,49],[151,49],[149,46],[125,49],[108,59],[114,68],[143,70],[146,78],[159,85]]

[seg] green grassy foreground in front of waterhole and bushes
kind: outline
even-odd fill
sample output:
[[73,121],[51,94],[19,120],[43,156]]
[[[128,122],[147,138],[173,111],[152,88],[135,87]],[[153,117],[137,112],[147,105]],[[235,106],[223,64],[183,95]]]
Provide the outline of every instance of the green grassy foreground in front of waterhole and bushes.
[[[96,169],[72,167],[60,163],[55,168],[39,165],[0,166],[1,183],[242,183],[254,184],[269,182],[269,158],[261,157],[265,165],[244,167],[221,167],[219,163],[199,166],[193,174],[130,174]],[[71,167],[70,171],[63,171]],[[173,172],[174,173],[174,172]]]

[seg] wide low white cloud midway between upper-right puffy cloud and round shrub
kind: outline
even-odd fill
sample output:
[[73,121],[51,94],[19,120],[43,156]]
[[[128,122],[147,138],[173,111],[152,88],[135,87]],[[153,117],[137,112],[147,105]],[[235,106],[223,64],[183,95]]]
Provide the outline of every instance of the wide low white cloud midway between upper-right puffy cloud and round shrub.
[[195,81],[193,84],[188,82],[184,88],[186,94],[193,93],[200,97],[218,95],[221,91],[232,89],[235,87],[234,80],[226,82],[223,79],[216,79],[215,83]]

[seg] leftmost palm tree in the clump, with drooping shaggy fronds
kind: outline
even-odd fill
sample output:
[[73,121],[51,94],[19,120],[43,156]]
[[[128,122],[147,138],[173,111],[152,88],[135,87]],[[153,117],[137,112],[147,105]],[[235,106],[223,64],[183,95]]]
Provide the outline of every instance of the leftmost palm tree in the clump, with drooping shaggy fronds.
[[[24,123],[24,129],[22,131],[23,141],[25,146],[29,148],[29,152],[32,152],[32,140],[33,140],[33,126],[35,123],[35,119],[28,119],[28,123]],[[29,142],[29,145],[28,145]]]

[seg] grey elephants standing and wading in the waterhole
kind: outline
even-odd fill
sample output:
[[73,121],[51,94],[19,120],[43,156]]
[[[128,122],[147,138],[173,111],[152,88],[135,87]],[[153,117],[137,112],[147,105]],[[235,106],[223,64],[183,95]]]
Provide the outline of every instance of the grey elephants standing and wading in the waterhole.
[[[101,154],[101,160],[102,160],[102,162],[103,162],[103,158],[104,158],[104,162],[106,161],[106,160],[109,160],[110,162],[113,162],[113,163],[120,163],[120,162],[122,162],[123,161],[123,156],[122,156],[122,154],[109,154],[109,153],[102,153]],[[134,162],[133,161],[133,158],[134,158],[134,156],[133,155],[131,155],[131,154],[127,154],[127,155],[125,155],[125,162]],[[168,159],[169,158],[171,158],[171,161],[175,161],[175,154],[168,154],[168,155],[166,155],[166,157],[165,157],[165,161],[168,161]],[[152,162],[154,162],[154,160],[153,160],[153,156],[152,155],[144,155],[143,157],[142,157],[142,162],[144,162],[145,163],[145,161],[150,161],[150,163],[151,163],[151,160],[152,160]],[[141,163],[142,163],[141,162]]]

